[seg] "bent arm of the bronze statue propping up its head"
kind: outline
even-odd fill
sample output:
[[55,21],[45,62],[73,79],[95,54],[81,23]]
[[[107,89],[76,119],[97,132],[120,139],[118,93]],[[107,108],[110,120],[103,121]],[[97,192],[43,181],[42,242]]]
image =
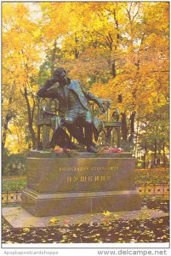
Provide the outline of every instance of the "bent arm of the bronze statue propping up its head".
[[37,96],[43,97],[43,98],[57,97],[56,93],[54,93],[52,90],[48,90],[56,82],[58,82],[56,79],[47,80],[46,83],[43,85],[43,87],[37,91]]

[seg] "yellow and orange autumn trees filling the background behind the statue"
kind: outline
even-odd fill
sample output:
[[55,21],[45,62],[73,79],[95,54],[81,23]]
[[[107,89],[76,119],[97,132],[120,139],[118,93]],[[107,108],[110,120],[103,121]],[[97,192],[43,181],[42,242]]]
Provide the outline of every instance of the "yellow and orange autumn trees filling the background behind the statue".
[[120,109],[123,147],[166,165],[168,3],[2,6],[3,152],[36,147],[36,91],[62,66]]

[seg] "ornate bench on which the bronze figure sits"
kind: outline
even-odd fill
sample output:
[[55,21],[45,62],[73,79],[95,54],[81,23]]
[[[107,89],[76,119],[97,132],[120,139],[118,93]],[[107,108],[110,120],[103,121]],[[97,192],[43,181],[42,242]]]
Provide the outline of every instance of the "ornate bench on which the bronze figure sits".
[[[104,103],[105,113],[103,114],[95,107],[94,103],[91,106],[94,116],[100,117],[105,125],[100,134],[100,144],[114,146],[114,136],[116,135],[117,148],[119,148],[122,123],[119,121],[118,108],[111,108],[111,102],[108,100]],[[49,138],[52,136],[52,131],[59,125],[59,120],[60,109],[58,100],[37,97],[37,149],[45,149]]]

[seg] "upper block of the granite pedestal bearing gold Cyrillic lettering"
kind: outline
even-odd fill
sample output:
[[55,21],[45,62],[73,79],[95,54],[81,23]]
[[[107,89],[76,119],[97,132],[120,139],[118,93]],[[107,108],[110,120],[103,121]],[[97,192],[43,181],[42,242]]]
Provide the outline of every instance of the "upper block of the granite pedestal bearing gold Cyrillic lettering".
[[28,183],[39,193],[134,189],[133,159],[34,159]]

